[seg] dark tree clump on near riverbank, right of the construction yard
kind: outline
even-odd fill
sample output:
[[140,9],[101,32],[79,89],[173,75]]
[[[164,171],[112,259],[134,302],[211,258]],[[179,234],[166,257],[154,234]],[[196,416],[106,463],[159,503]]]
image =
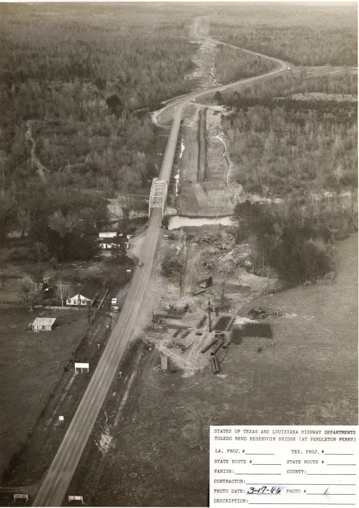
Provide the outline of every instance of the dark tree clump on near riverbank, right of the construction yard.
[[237,240],[250,239],[253,273],[269,279],[275,270],[289,285],[331,273],[330,229],[313,215],[303,216],[297,205],[245,201],[235,207]]

